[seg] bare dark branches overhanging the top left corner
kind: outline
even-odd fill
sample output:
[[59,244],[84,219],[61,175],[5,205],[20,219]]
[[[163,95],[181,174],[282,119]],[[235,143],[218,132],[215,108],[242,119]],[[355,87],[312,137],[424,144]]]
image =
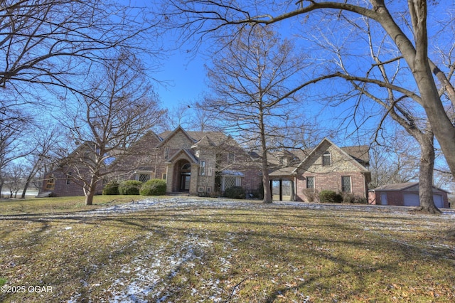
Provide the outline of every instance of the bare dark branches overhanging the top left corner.
[[154,30],[143,12],[115,1],[1,1],[0,85],[73,88],[73,76],[111,60],[119,48],[154,52],[141,46]]

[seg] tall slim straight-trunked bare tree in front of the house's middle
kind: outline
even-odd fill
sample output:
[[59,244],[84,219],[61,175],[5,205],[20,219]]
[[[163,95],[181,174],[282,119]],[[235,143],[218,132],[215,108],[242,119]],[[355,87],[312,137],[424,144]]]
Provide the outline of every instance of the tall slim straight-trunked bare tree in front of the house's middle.
[[[237,38],[223,45],[225,48],[213,58],[213,66],[208,67],[213,95],[198,106],[210,112],[225,132],[239,134],[241,145],[257,144],[263,201],[272,203],[267,154],[284,143],[279,135],[291,127],[290,116],[295,117],[296,111],[291,108],[299,96],[289,87],[304,68],[304,56],[294,55],[291,41],[281,41],[276,33],[261,26],[240,28]],[[276,140],[273,146],[272,138]]]

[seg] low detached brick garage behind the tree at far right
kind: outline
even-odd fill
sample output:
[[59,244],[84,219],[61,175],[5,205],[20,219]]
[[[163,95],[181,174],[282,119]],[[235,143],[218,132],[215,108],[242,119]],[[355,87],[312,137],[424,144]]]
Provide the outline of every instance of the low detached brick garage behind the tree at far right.
[[[450,208],[447,193],[449,192],[433,186],[433,200],[437,208]],[[378,205],[419,206],[419,183],[387,184],[375,188],[368,193],[368,202]]]

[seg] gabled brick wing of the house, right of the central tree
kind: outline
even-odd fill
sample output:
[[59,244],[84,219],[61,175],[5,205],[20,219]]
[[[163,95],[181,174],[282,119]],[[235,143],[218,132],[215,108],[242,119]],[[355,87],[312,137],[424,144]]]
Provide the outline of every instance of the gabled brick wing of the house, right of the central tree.
[[[338,147],[329,139],[310,151],[284,153],[271,171],[274,200],[316,201],[323,190],[368,198],[370,156],[367,145]],[[290,195],[290,196],[288,196]]]

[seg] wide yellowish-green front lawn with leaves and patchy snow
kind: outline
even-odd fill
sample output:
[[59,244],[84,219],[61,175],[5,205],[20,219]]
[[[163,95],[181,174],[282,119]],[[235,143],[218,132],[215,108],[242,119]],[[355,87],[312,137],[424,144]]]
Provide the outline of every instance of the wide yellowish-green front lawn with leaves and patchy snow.
[[454,213],[95,198],[0,202],[0,302],[455,301]]

